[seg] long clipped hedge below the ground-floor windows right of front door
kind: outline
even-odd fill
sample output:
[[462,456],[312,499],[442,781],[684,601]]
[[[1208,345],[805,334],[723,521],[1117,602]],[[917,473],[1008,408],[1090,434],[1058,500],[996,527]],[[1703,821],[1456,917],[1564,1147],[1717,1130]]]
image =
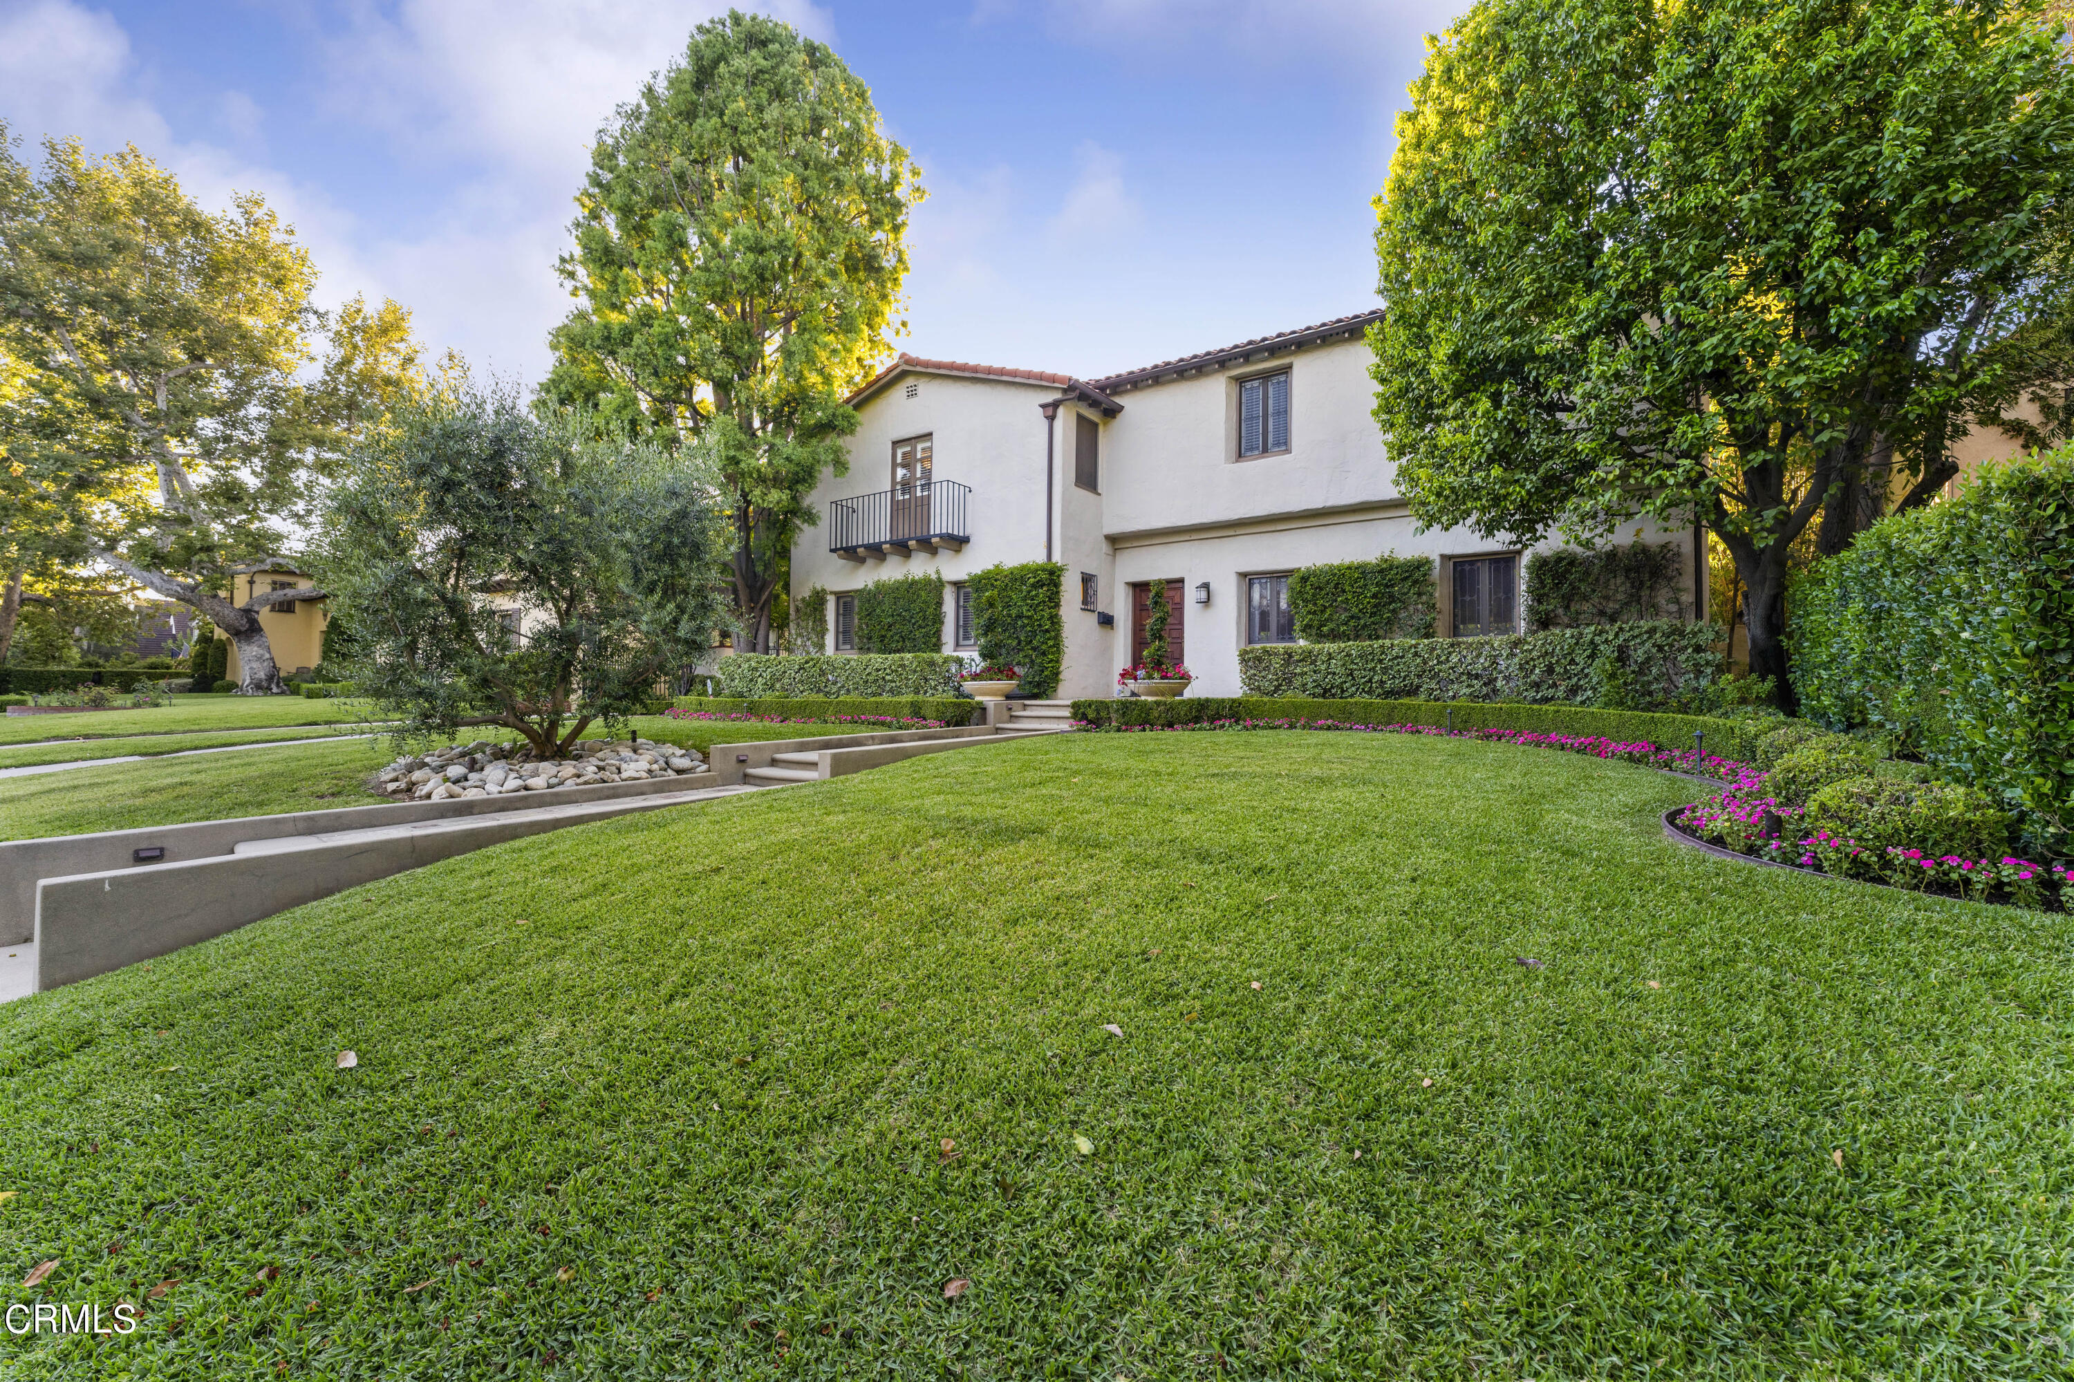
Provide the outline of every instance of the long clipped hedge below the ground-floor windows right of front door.
[[1591,706],[1607,666],[1645,706],[1697,695],[1726,660],[1715,625],[1634,623],[1495,639],[1261,643],[1238,649],[1249,695]]

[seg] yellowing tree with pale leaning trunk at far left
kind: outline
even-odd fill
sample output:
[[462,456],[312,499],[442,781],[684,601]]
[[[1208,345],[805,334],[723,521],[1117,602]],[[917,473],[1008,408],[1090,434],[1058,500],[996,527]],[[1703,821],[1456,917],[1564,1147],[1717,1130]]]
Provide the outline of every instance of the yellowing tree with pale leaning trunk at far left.
[[[419,378],[409,313],[355,299],[326,320],[313,282],[257,195],[209,214],[135,147],[91,158],[75,139],[48,141],[35,176],[0,131],[8,577],[104,562],[222,629],[243,691],[280,691],[259,614],[311,591],[234,602],[234,577],[280,560],[321,461]],[[330,357],[301,380],[326,330]]]

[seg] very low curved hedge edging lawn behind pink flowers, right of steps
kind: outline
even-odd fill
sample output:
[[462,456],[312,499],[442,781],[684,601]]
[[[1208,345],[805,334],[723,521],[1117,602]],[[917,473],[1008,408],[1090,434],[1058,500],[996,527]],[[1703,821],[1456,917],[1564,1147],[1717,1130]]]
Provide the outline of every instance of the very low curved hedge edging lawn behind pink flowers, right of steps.
[[1670,716],[1647,710],[1597,710],[1591,706],[1502,706],[1489,701],[1383,701],[1307,699],[1267,695],[1182,695],[1157,699],[1074,701],[1072,718],[1095,728],[1215,724],[1220,720],[1296,720],[1305,724],[1454,724],[1470,728],[1514,728],[1531,735],[1587,735],[1620,743],[1649,741],[1663,749],[1686,749],[1692,735],[1707,737],[1707,753],[1750,762],[1757,741],[1771,733],[1763,720],[1713,720]]

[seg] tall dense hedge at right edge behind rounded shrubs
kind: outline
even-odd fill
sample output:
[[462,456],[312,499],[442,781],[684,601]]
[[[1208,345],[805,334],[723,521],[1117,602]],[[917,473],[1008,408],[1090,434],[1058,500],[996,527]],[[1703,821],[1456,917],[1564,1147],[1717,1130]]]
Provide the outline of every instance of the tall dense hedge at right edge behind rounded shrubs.
[[1989,465],[1794,585],[1794,691],[2026,816],[2074,830],[2074,448]]

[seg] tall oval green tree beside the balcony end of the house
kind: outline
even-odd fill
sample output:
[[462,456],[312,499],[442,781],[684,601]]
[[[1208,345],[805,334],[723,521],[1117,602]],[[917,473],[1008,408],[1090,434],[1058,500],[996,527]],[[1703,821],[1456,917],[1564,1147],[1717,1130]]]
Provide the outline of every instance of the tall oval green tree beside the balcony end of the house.
[[772,596],[842,398],[886,355],[919,170],[823,44],[757,15],[693,31],[618,110],[577,197],[550,405],[695,438],[726,490],[738,645],[769,652]]

